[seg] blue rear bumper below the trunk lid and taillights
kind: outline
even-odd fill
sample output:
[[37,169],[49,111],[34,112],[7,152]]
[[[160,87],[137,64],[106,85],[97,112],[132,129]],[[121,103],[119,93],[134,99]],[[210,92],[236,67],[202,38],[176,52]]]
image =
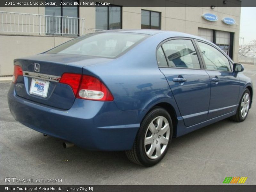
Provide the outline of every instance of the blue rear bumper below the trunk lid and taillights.
[[76,99],[69,110],[51,108],[8,92],[12,116],[20,123],[90,150],[129,150],[141,111],[120,111],[115,102]]

